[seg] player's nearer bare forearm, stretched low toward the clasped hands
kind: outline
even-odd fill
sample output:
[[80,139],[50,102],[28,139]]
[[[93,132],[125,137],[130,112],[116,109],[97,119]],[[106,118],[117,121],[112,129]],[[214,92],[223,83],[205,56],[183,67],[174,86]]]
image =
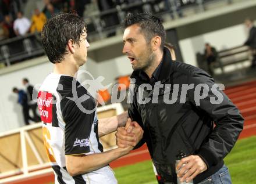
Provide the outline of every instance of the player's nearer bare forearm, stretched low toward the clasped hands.
[[116,148],[103,153],[89,154],[87,156],[66,156],[67,172],[71,176],[84,174],[102,168],[130,152],[129,149]]

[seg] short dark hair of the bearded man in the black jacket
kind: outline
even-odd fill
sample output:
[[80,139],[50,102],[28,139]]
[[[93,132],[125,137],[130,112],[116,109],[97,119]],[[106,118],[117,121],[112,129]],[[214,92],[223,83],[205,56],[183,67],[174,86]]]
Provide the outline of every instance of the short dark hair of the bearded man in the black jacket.
[[138,24],[140,26],[141,33],[144,34],[147,42],[150,42],[155,36],[161,37],[161,49],[163,49],[166,32],[165,28],[163,28],[162,19],[149,13],[129,13],[123,21],[123,27],[127,28],[133,24]]

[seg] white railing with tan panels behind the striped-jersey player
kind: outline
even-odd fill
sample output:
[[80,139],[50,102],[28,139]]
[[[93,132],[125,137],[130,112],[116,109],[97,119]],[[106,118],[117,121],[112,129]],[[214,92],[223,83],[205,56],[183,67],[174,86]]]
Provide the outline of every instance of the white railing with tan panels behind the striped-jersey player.
[[[115,114],[120,114],[123,112],[123,107],[120,103],[109,104],[107,106],[102,106],[97,108],[97,113],[103,113],[108,110],[116,110]],[[0,173],[0,183],[8,183],[18,181],[20,179],[30,178],[37,175],[42,174],[51,174],[52,169],[49,168],[51,165],[48,162],[46,153],[44,151],[44,143],[41,136],[41,123],[27,125],[26,127],[13,129],[8,132],[0,133],[0,163],[4,163],[5,165],[13,167],[15,169],[6,169],[3,170],[4,167],[1,164]],[[33,132],[37,131],[38,132]],[[37,133],[37,144],[35,144],[35,136],[31,138],[31,135],[35,135]],[[19,136],[17,136],[19,135]],[[40,138],[41,140],[39,140]],[[8,140],[11,139],[11,140]],[[10,150],[9,146],[13,146],[13,140],[20,140],[20,150],[13,147],[9,153],[6,150]],[[39,141],[39,143],[38,143]],[[8,145],[8,149],[4,149],[4,146]],[[3,146],[3,147],[1,147]],[[19,146],[18,146],[19,147]],[[39,148],[39,149],[38,149]],[[40,151],[41,150],[41,151]],[[43,151],[42,151],[43,150]],[[43,152],[43,153],[42,153]],[[41,154],[40,154],[41,153]],[[19,160],[17,161],[13,159],[11,154],[15,154],[18,157],[22,158],[21,164],[19,164]],[[30,158],[34,157],[37,161],[37,164],[30,163]],[[33,158],[33,159],[34,159]]]

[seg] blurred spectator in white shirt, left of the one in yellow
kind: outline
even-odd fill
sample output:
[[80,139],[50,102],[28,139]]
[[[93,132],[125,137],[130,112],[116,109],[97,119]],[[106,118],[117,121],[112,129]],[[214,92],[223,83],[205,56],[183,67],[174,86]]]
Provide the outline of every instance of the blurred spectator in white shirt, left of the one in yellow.
[[25,35],[26,33],[29,32],[30,28],[30,21],[26,17],[23,17],[22,12],[17,13],[17,19],[13,23],[13,30],[15,31],[15,34],[17,36],[19,35]]

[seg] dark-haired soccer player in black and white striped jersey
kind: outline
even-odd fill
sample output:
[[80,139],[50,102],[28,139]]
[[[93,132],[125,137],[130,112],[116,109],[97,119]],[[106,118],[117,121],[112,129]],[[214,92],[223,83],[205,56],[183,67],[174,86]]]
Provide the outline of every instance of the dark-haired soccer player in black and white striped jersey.
[[94,98],[75,78],[86,63],[90,46],[86,24],[78,15],[52,17],[41,36],[45,53],[55,64],[38,92],[44,144],[55,183],[117,183],[108,164],[129,153],[133,146],[103,152],[99,137],[126,124],[135,146],[143,130],[137,122],[127,121],[127,113],[97,119]]

